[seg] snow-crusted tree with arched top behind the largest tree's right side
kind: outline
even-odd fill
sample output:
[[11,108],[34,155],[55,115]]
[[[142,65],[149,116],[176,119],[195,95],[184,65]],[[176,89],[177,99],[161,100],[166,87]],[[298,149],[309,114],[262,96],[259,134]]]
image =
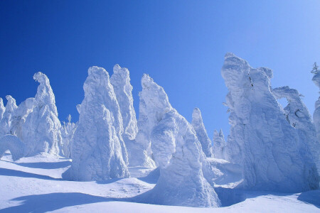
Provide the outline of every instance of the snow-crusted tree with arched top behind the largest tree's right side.
[[320,171],[320,143],[316,138],[316,129],[312,122],[309,110],[302,102],[302,94],[296,89],[289,87],[279,87],[272,89],[272,94],[276,99],[287,99],[287,107],[284,107],[284,115],[287,121],[298,132],[299,137],[304,143],[309,146],[312,158],[317,165],[318,172]]

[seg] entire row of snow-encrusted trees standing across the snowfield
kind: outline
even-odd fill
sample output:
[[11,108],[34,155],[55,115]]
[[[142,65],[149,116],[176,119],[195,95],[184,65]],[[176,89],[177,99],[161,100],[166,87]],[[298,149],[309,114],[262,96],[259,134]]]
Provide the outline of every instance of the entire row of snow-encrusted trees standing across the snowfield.
[[[137,121],[129,70],[115,65],[111,77],[101,67],[88,70],[76,124],[68,119],[61,126],[49,80],[41,72],[34,75],[40,83],[35,98],[17,107],[7,96],[5,108],[0,99],[0,155],[7,149],[16,159],[64,155],[73,162],[63,178],[78,181],[129,177],[129,166],[159,167],[156,187],[146,195],[156,204],[218,207],[213,165],[207,160],[213,157],[242,165],[245,189],[319,188],[320,104],[313,123],[297,90],[272,89],[272,70],[253,69],[232,53],[225,55],[222,75],[231,129],[227,142],[222,131],[214,132],[213,148],[201,111],[194,109],[192,122],[186,121],[149,75],[142,77]],[[320,84],[317,75],[314,82]],[[283,97],[289,102],[284,109],[277,102]]]

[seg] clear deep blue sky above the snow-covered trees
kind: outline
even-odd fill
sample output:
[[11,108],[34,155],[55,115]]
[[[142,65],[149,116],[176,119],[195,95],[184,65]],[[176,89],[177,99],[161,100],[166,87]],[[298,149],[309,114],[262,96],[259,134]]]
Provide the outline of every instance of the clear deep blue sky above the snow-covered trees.
[[[272,87],[304,94],[311,113],[319,94],[311,82],[320,63],[320,1],[0,1],[0,97],[34,97],[33,73],[48,75],[59,118],[78,120],[87,68],[127,67],[134,107],[143,73],[164,87],[191,121],[199,107],[210,138],[229,131],[226,52],[252,67],[274,70]],[[6,102],[6,101],[5,101]]]

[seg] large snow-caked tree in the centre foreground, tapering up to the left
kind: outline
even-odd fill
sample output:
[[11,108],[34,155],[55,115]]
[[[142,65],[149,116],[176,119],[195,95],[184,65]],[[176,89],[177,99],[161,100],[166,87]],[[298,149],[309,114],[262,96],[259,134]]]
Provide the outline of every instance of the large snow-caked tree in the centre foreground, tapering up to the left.
[[191,124],[171,107],[164,89],[149,75],[142,77],[140,99],[147,112],[151,149],[160,168],[160,178],[154,189],[144,194],[144,202],[220,206],[215,190],[203,177],[206,156]]

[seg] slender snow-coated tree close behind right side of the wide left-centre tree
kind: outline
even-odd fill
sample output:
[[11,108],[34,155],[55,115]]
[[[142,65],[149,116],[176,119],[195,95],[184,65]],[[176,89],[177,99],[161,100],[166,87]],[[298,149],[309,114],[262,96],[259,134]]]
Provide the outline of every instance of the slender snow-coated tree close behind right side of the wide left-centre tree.
[[149,157],[143,144],[134,139],[138,133],[136,112],[133,106],[132,85],[130,84],[129,70],[114,65],[110,82],[119,103],[122,114],[123,128],[122,138],[127,147],[130,166],[154,167],[154,161]]

